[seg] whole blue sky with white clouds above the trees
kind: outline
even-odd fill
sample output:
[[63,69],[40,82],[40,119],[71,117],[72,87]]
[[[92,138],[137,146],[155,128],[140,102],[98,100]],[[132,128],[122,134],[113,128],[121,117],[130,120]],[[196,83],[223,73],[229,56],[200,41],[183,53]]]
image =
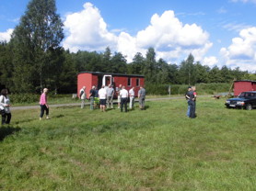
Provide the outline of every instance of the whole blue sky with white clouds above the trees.
[[[29,0],[0,0],[0,40],[9,41]],[[148,48],[180,64],[192,53],[209,67],[256,72],[256,0],[56,0],[62,46],[72,52],[122,52],[127,62]]]

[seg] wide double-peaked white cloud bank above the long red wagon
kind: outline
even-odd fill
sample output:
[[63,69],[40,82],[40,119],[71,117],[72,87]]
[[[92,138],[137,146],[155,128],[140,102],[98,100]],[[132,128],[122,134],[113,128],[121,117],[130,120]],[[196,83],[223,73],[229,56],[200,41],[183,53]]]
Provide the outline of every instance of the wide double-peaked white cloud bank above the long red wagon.
[[70,51],[120,51],[132,62],[136,52],[145,52],[153,47],[157,59],[180,62],[189,53],[196,61],[202,61],[204,54],[212,47],[209,34],[196,24],[182,24],[173,11],[165,11],[161,16],[151,17],[147,28],[131,36],[118,29],[108,30],[99,9],[90,3],[81,12],[68,14],[64,20],[64,48]]

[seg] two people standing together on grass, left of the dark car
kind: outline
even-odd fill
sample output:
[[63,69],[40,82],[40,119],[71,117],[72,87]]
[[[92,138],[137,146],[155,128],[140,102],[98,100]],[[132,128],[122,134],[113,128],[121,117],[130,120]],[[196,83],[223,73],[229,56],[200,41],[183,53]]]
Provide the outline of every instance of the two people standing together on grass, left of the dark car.
[[189,86],[188,91],[185,95],[186,99],[188,100],[188,110],[187,110],[187,117],[189,118],[196,118],[195,114],[195,103],[196,103],[196,92],[195,86]]

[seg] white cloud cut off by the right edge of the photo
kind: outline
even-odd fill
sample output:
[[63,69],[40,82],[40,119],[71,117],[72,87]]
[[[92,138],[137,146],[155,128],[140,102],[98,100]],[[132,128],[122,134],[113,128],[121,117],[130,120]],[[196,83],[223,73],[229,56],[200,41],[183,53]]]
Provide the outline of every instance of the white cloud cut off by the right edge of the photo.
[[232,68],[256,71],[256,28],[242,29],[229,47],[220,50],[220,55]]

